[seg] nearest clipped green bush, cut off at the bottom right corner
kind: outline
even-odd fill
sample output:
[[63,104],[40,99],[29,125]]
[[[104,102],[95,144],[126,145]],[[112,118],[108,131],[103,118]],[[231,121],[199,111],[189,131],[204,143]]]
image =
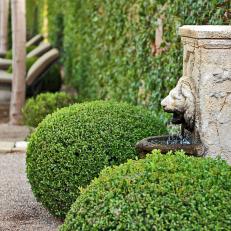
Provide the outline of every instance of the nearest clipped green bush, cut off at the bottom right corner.
[[60,231],[230,230],[230,197],[225,161],[156,151],[103,170]]

